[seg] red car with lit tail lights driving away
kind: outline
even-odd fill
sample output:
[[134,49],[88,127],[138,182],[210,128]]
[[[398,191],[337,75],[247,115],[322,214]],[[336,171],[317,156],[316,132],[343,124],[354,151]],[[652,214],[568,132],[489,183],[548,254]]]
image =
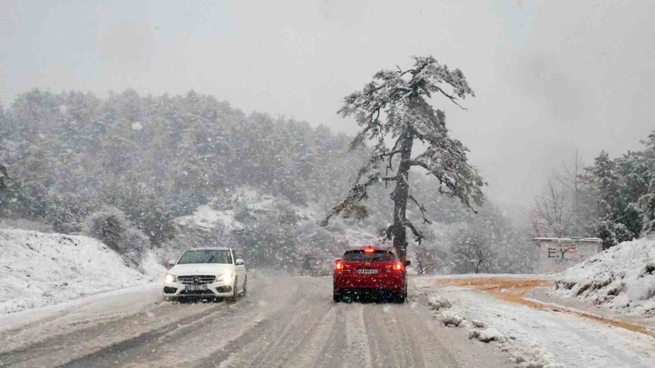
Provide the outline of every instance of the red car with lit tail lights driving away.
[[366,246],[346,251],[337,259],[333,273],[335,303],[368,291],[392,297],[398,303],[407,298],[407,272],[391,249]]

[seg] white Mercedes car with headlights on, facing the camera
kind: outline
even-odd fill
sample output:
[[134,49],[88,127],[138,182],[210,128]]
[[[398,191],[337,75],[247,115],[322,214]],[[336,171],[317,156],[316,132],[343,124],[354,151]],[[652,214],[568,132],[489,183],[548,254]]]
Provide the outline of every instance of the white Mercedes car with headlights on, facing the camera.
[[236,298],[246,295],[248,275],[243,259],[231,248],[194,248],[185,251],[164,280],[164,297]]

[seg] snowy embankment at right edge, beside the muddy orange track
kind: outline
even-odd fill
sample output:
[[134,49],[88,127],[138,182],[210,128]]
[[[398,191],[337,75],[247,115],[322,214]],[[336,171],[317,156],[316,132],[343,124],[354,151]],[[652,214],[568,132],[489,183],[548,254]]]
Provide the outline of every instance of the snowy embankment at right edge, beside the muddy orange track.
[[553,293],[655,317],[655,239],[623,242],[569,268],[555,281]]

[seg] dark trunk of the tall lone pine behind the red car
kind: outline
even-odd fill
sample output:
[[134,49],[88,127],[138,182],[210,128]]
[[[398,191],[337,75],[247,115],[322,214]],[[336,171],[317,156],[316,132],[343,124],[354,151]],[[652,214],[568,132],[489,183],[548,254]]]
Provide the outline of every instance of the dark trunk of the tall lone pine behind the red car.
[[411,132],[403,132],[404,138],[400,142],[400,164],[398,165],[399,179],[396,188],[391,194],[394,200],[394,225],[392,234],[394,236],[394,249],[401,262],[407,259],[407,231],[405,229],[405,213],[407,212],[407,198],[409,198],[409,168],[411,160],[411,149],[414,143],[414,136]]

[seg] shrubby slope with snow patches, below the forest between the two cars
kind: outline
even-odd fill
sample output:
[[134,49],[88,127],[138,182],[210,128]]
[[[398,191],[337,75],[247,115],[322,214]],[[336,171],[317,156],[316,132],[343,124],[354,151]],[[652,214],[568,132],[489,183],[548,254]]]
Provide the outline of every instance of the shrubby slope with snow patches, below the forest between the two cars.
[[165,261],[188,248],[230,246],[251,269],[322,275],[331,272],[333,260],[345,248],[381,240],[369,230],[370,219],[339,218],[324,228],[317,225],[321,215],[314,202],[292,204],[252,187],[238,187],[177,217],[176,238],[155,252]]

